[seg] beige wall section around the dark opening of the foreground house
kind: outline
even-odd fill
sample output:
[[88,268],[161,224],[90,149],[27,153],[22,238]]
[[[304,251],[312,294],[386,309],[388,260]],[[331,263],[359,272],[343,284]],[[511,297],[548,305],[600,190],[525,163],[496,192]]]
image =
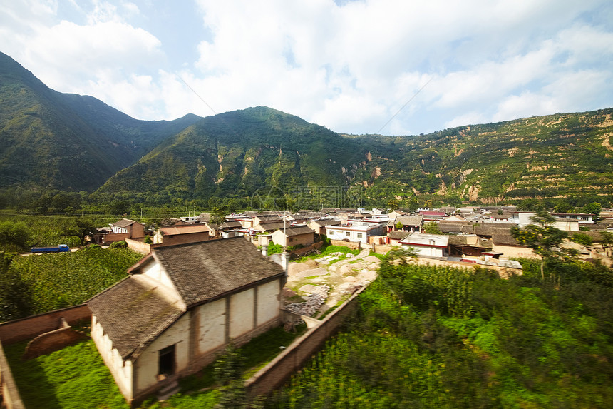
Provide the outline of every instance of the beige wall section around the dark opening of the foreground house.
[[185,370],[190,356],[189,312],[170,325],[136,359],[136,393],[158,383],[159,351],[170,345],[175,345],[175,373]]

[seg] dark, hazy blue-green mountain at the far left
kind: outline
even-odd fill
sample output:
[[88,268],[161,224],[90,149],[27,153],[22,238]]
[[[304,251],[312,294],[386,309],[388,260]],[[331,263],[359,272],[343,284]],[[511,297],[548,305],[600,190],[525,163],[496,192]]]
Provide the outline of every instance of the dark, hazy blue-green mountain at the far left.
[[61,94],[0,53],[0,190],[93,191],[200,120],[138,121],[91,96]]

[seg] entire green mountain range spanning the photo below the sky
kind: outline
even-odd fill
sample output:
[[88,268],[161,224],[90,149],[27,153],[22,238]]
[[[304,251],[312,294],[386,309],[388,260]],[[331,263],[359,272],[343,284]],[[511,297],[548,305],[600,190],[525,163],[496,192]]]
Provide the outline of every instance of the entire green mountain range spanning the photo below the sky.
[[4,54],[0,106],[0,191],[246,203],[267,200],[272,187],[275,196],[311,208],[349,197],[365,206],[393,198],[402,205],[416,195],[451,204],[613,201],[613,108],[398,137],[341,135],[262,106],[138,121],[90,96],[48,89]]

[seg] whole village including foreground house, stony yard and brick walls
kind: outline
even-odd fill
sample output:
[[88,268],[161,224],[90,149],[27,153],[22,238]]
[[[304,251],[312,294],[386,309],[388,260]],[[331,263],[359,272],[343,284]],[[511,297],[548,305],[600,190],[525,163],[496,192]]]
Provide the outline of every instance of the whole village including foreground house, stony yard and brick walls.
[[[26,355],[37,356],[74,342],[79,335],[71,323],[89,318],[91,338],[135,407],[150,395],[165,400],[177,393],[180,378],[212,363],[229,343],[243,345],[271,328],[292,330],[306,323],[309,330],[294,346],[247,381],[252,393],[268,393],[299,368],[295,355],[304,362],[334,333],[361,289],[376,279],[377,255],[411,248],[416,263],[520,275],[522,266],[514,259],[535,253],[520,246],[510,228],[527,226],[532,216],[514,206],[413,213],[324,208],[232,213],[222,223],[201,213],[168,219],[155,231],[124,218],[98,229],[93,241],[103,246],[125,241],[143,253],[127,278],[82,306],[4,323],[0,340],[34,338]],[[560,230],[594,241],[564,246],[574,246],[585,260],[609,263],[599,231],[613,224],[613,212],[600,213],[598,223],[587,213],[552,216]],[[354,252],[303,257],[316,255],[324,243]],[[0,361],[0,368],[4,400],[23,407],[10,398],[19,392],[7,381],[6,363]]]

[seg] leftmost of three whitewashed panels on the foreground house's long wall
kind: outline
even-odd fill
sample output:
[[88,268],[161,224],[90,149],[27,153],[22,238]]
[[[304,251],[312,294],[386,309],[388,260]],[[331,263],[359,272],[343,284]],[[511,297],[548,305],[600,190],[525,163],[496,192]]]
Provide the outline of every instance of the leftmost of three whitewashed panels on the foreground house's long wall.
[[198,318],[197,355],[202,355],[225,343],[226,298],[203,304],[195,313]]

